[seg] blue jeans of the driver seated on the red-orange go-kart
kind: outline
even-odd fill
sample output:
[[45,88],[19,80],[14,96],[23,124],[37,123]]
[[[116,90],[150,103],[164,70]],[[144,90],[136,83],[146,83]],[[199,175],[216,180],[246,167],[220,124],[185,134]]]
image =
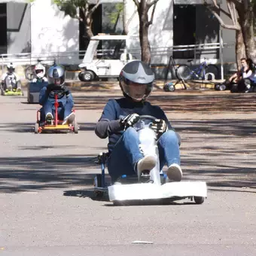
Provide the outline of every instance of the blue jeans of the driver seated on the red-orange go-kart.
[[[72,108],[73,108],[73,102],[67,100],[66,104],[63,105],[62,102],[59,102],[59,108],[58,108],[58,117],[59,120],[64,120],[69,114],[72,113]],[[55,107],[54,103],[50,101],[50,99],[47,99],[47,101],[44,103],[44,106],[41,108],[41,120],[45,120],[45,115],[47,113],[52,113],[53,117],[55,118]]]

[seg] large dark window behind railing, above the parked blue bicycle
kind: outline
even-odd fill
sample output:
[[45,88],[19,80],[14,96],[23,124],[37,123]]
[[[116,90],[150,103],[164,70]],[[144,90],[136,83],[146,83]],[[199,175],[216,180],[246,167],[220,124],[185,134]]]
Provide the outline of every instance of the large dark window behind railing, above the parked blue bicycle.
[[[182,0],[175,0],[173,5],[173,45],[209,44],[219,42],[220,25],[218,20],[204,5],[180,5]],[[184,1],[183,1],[184,2]],[[175,59],[217,58],[218,49],[197,51],[174,51]]]

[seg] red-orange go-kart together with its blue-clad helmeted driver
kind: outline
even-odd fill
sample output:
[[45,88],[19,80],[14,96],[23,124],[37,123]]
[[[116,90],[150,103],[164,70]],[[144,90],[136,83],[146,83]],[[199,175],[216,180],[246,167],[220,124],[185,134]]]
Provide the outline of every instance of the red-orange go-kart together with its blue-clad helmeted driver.
[[39,95],[42,108],[37,113],[35,133],[74,132],[78,133],[72,93],[65,86],[65,69],[51,66],[47,72],[49,84],[43,87]]

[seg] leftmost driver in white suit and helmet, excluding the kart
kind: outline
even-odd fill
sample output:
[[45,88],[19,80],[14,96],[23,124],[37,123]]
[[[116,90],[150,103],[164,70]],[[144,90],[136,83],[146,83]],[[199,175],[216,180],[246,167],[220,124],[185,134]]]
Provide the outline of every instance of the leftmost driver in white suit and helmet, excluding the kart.
[[8,72],[2,75],[2,89],[5,91],[12,90],[19,92],[21,91],[21,84],[19,76],[14,72],[14,63],[9,63],[7,66]]

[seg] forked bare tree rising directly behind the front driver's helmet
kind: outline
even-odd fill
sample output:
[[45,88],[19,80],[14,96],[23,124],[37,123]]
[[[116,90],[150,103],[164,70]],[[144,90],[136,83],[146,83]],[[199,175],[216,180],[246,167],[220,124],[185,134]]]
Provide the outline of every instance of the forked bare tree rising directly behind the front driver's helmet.
[[[148,40],[148,29],[153,23],[154,11],[159,0],[133,0],[139,14],[139,41],[142,48],[142,61],[150,64],[151,47]],[[148,11],[153,7],[151,19],[148,19]]]

